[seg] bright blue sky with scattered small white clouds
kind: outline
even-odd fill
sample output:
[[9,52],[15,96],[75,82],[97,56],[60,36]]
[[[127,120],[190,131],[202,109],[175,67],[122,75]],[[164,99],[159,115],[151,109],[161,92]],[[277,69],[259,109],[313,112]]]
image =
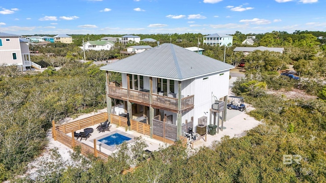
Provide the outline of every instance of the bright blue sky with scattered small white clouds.
[[325,0],[7,0],[0,32],[234,34],[326,31]]

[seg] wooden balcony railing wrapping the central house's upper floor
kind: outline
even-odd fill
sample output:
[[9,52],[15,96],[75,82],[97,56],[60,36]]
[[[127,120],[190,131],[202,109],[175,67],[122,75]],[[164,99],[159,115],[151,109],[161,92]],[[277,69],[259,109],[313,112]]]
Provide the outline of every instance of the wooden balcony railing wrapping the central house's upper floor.
[[[129,94],[128,94],[129,92]],[[116,86],[108,86],[108,96],[113,98],[124,98],[133,101],[133,102],[141,102],[150,104],[149,101],[149,93],[140,92],[138,90],[127,89]],[[188,96],[181,99],[181,110],[188,109],[194,106],[194,95]],[[156,94],[152,94],[152,106],[157,108],[167,108],[172,110],[178,110],[178,99],[160,96]]]

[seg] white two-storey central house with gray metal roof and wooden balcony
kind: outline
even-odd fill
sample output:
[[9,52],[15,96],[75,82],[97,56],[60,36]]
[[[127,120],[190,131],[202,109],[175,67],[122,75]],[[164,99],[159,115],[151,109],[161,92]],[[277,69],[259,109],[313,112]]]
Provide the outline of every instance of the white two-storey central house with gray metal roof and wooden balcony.
[[[151,127],[151,138],[158,140],[175,141],[188,133],[189,127],[194,132],[203,128],[206,132],[207,118],[212,114],[215,119],[222,112],[226,119],[229,72],[233,68],[170,43],[120,59],[100,68],[106,71],[108,119],[128,114],[132,119],[141,114],[142,121]],[[120,86],[110,84],[111,72],[121,74]],[[113,100],[123,101],[125,114],[115,114]],[[212,108],[212,104],[220,108]],[[199,123],[204,127],[198,127]],[[209,123],[215,124],[215,120]]]

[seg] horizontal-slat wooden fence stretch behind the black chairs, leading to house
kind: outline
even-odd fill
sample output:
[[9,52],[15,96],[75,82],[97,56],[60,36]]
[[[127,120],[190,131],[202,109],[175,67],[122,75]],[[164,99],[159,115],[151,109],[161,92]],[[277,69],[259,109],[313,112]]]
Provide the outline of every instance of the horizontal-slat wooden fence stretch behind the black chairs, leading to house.
[[81,130],[95,124],[103,123],[107,119],[107,112],[95,114],[91,117],[85,117],[83,119],[71,121],[70,123],[56,127],[56,130],[64,133],[70,133],[71,131]]

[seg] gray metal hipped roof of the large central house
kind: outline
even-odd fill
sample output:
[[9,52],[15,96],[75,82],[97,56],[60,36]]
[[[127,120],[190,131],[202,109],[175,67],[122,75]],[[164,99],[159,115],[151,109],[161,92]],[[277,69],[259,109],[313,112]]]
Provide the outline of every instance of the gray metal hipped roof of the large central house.
[[232,65],[220,60],[164,43],[103,66],[100,70],[182,81],[232,68]]

